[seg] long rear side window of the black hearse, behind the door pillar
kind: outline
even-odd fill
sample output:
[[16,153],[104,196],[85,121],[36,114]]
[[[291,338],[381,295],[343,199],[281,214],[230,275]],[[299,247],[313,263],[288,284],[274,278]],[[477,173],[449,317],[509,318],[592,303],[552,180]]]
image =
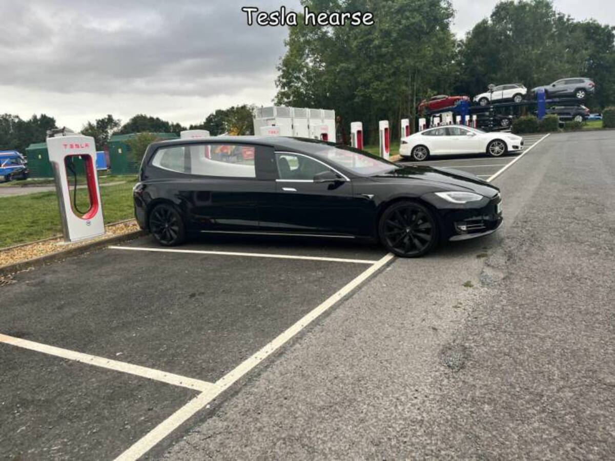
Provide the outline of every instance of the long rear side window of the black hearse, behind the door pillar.
[[255,146],[188,144],[156,151],[151,164],[165,170],[199,176],[256,178]]

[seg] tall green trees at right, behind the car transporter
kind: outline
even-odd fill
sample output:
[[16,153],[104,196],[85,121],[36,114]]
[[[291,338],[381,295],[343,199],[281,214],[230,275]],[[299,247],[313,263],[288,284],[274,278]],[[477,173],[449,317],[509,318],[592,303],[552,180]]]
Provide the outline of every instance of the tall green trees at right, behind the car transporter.
[[[473,97],[489,84],[531,89],[563,77],[597,82],[590,106],[615,103],[615,35],[595,20],[575,21],[549,0],[499,2],[464,39],[451,32],[448,0],[302,0],[312,10],[370,10],[370,27],[289,28],[276,104],[333,108],[344,124],[415,117],[435,94]],[[393,123],[394,135],[399,132]]]

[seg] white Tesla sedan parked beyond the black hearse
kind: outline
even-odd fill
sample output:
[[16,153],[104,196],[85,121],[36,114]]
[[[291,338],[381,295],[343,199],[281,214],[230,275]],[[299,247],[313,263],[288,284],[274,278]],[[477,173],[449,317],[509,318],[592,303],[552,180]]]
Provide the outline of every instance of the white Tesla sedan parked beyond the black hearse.
[[511,133],[486,133],[463,125],[428,128],[402,138],[399,154],[417,162],[430,156],[482,154],[501,157],[523,150],[523,138]]

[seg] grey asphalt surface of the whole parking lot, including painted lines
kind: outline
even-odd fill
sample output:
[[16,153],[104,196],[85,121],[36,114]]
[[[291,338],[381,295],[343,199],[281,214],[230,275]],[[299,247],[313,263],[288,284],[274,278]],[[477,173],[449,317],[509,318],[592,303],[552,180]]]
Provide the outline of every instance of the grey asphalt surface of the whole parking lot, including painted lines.
[[[555,211],[579,205],[586,173],[605,201],[583,207],[610,223],[612,160],[557,154],[607,151],[613,138],[568,136],[474,168],[504,172],[505,228],[428,258],[354,242],[220,237],[167,249],[143,237],[15,275],[0,287],[0,459],[566,459],[583,453],[558,447],[566,424],[583,427],[600,459],[612,401],[584,379],[602,363],[603,388],[615,382],[613,344],[596,334],[615,325],[598,309],[613,294],[615,228],[579,234]],[[549,200],[530,201],[545,189]],[[556,230],[554,216],[565,221]],[[592,237],[587,248],[579,235]],[[554,246],[568,237],[577,245]],[[555,385],[565,392],[552,401]],[[542,405],[549,417],[538,419]]]

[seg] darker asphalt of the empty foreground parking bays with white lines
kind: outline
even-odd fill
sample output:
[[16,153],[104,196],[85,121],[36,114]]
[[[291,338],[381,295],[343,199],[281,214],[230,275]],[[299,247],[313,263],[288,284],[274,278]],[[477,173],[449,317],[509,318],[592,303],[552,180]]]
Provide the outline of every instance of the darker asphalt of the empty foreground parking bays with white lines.
[[[23,432],[18,444],[0,443],[12,447],[10,459],[48,450],[136,459],[392,259],[341,242],[271,240],[248,251],[223,238],[152,251],[145,237],[125,248],[24,272],[2,288],[0,388],[10,395],[2,425]],[[26,368],[60,371],[25,376]],[[10,386],[21,380],[30,384],[15,392]],[[81,409],[86,421],[107,408],[104,422],[84,425],[106,443],[74,431],[64,417],[71,406],[51,404],[56,393],[63,393],[58,404],[89,405],[91,416]],[[110,395],[116,401],[106,407]],[[22,414],[24,401],[50,403],[16,420],[10,415]],[[33,425],[51,429],[31,439]]]

